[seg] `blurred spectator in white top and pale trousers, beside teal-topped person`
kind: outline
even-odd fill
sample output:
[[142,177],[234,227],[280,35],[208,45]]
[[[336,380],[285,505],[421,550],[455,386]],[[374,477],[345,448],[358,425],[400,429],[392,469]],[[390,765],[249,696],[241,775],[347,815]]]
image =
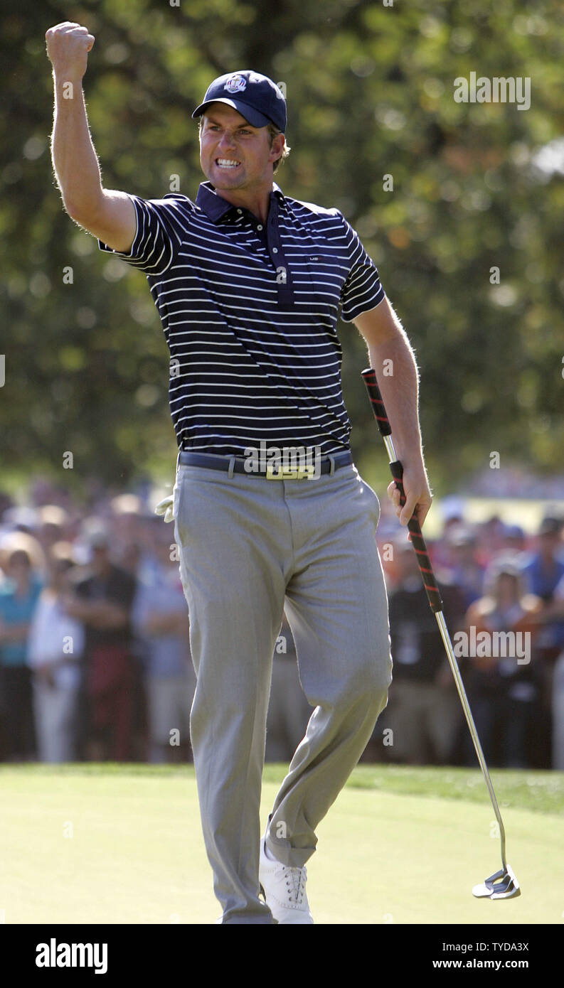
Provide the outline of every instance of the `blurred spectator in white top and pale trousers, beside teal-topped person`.
[[78,664],[84,650],[84,630],[62,607],[73,566],[68,542],[51,546],[48,583],[40,593],[28,639],[41,762],[72,762],[76,758]]

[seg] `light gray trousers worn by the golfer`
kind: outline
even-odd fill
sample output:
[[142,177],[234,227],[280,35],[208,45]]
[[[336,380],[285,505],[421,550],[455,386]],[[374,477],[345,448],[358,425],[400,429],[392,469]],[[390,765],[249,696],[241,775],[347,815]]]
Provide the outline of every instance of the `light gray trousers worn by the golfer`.
[[268,846],[301,866],[387,703],[379,501],[354,465],[314,479],[179,465],[175,538],[197,675],[190,730],[222,922],[272,924],[259,898],[260,799],[282,610],[315,707],[275,800]]

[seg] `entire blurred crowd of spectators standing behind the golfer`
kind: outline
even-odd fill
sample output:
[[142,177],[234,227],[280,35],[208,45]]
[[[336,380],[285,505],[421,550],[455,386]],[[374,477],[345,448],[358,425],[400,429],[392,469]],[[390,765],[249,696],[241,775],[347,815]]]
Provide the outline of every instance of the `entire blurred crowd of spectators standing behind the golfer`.
[[[394,669],[363,761],[474,766],[416,554],[380,501]],[[556,510],[525,534],[497,516],[471,525],[460,506],[428,539],[494,766],[564,770],[563,532]],[[25,505],[0,492],[0,760],[191,761],[195,688],[174,528],[152,500],[100,487],[85,508],[39,479]],[[267,761],[291,758],[310,713],[284,617]]]

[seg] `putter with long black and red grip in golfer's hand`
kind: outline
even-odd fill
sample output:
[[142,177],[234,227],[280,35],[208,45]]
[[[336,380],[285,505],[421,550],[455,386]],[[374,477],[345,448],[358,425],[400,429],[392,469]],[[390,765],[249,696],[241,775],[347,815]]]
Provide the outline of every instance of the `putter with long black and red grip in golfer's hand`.
[[[384,403],[382,401],[382,396],[380,394],[380,389],[378,387],[378,382],[376,380],[375,371],[372,368],[368,368],[366,371],[362,371],[364,384],[366,385],[366,390],[368,392],[368,398],[370,399],[370,404],[372,406],[372,412],[374,413],[374,418],[377,422],[378,429],[384,441],[386,451],[389,456],[390,470],[392,477],[395,480],[395,485],[400,493],[400,504],[405,504],[405,491],[403,489],[403,466],[400,460],[397,458],[394,445],[391,437],[391,426],[386,415],[386,410],[384,408]],[[427,552],[427,546],[425,544],[425,539],[421,533],[421,526],[417,520],[416,515],[412,515],[408,522],[408,529],[411,533],[411,541],[413,542],[413,547],[417,553],[417,561],[419,563],[419,568],[421,570],[421,576],[423,578],[423,586],[425,587],[427,593],[427,599],[431,606],[435,617],[437,618],[437,623],[439,624],[439,630],[441,631],[441,636],[443,638],[444,648],[446,649],[446,656],[450,664],[450,670],[452,676],[454,677],[454,683],[456,684],[456,689],[458,691],[458,697],[462,704],[462,709],[464,711],[464,716],[466,717],[466,722],[470,730],[472,741],[474,743],[474,748],[476,749],[476,755],[478,756],[478,762],[480,763],[480,768],[482,770],[482,775],[488,786],[488,792],[490,793],[490,799],[492,801],[492,806],[494,808],[494,813],[496,814],[496,819],[500,828],[500,838],[501,838],[501,851],[502,851],[502,870],[496,871],[495,874],[490,875],[489,878],[485,878],[480,885],[474,885],[472,889],[472,894],[476,898],[488,898],[488,899],[511,899],[518,895],[521,895],[521,888],[519,881],[517,880],[512,868],[506,861],[506,832],[504,827],[504,822],[502,820],[502,815],[500,813],[500,808],[498,806],[498,800],[496,799],[496,793],[494,792],[494,786],[490,779],[490,774],[488,772],[488,767],[486,765],[486,760],[484,758],[484,753],[482,751],[482,746],[480,744],[480,739],[478,737],[478,732],[476,730],[476,725],[474,723],[474,718],[472,716],[472,711],[470,710],[470,704],[468,703],[468,698],[466,697],[466,691],[464,690],[464,684],[462,683],[462,677],[460,676],[460,670],[458,669],[458,663],[456,662],[456,657],[452,650],[452,643],[450,641],[450,635],[448,634],[448,629],[444,621],[443,616],[443,600],[439,587],[437,585],[437,580],[435,579],[435,573],[433,572],[433,567],[431,565],[431,560]]]

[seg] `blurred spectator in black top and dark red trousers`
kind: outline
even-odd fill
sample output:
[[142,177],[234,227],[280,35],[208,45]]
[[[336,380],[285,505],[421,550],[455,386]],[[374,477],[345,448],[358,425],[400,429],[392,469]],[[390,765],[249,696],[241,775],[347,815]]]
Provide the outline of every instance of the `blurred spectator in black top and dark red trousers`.
[[129,613],[135,579],[110,558],[110,534],[87,529],[91,572],[64,601],[69,617],[85,625],[83,713],[86,754],[92,761],[133,757],[136,668]]

